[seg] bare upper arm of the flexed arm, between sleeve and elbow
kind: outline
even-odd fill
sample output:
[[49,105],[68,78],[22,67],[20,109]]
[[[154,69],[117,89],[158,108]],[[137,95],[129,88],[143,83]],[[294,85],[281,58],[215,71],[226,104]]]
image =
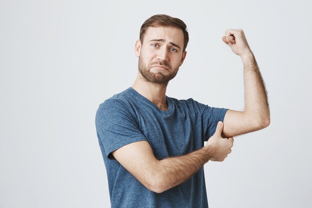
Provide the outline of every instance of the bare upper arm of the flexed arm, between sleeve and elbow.
[[222,137],[229,138],[259,130],[253,119],[244,111],[228,110],[223,120]]

